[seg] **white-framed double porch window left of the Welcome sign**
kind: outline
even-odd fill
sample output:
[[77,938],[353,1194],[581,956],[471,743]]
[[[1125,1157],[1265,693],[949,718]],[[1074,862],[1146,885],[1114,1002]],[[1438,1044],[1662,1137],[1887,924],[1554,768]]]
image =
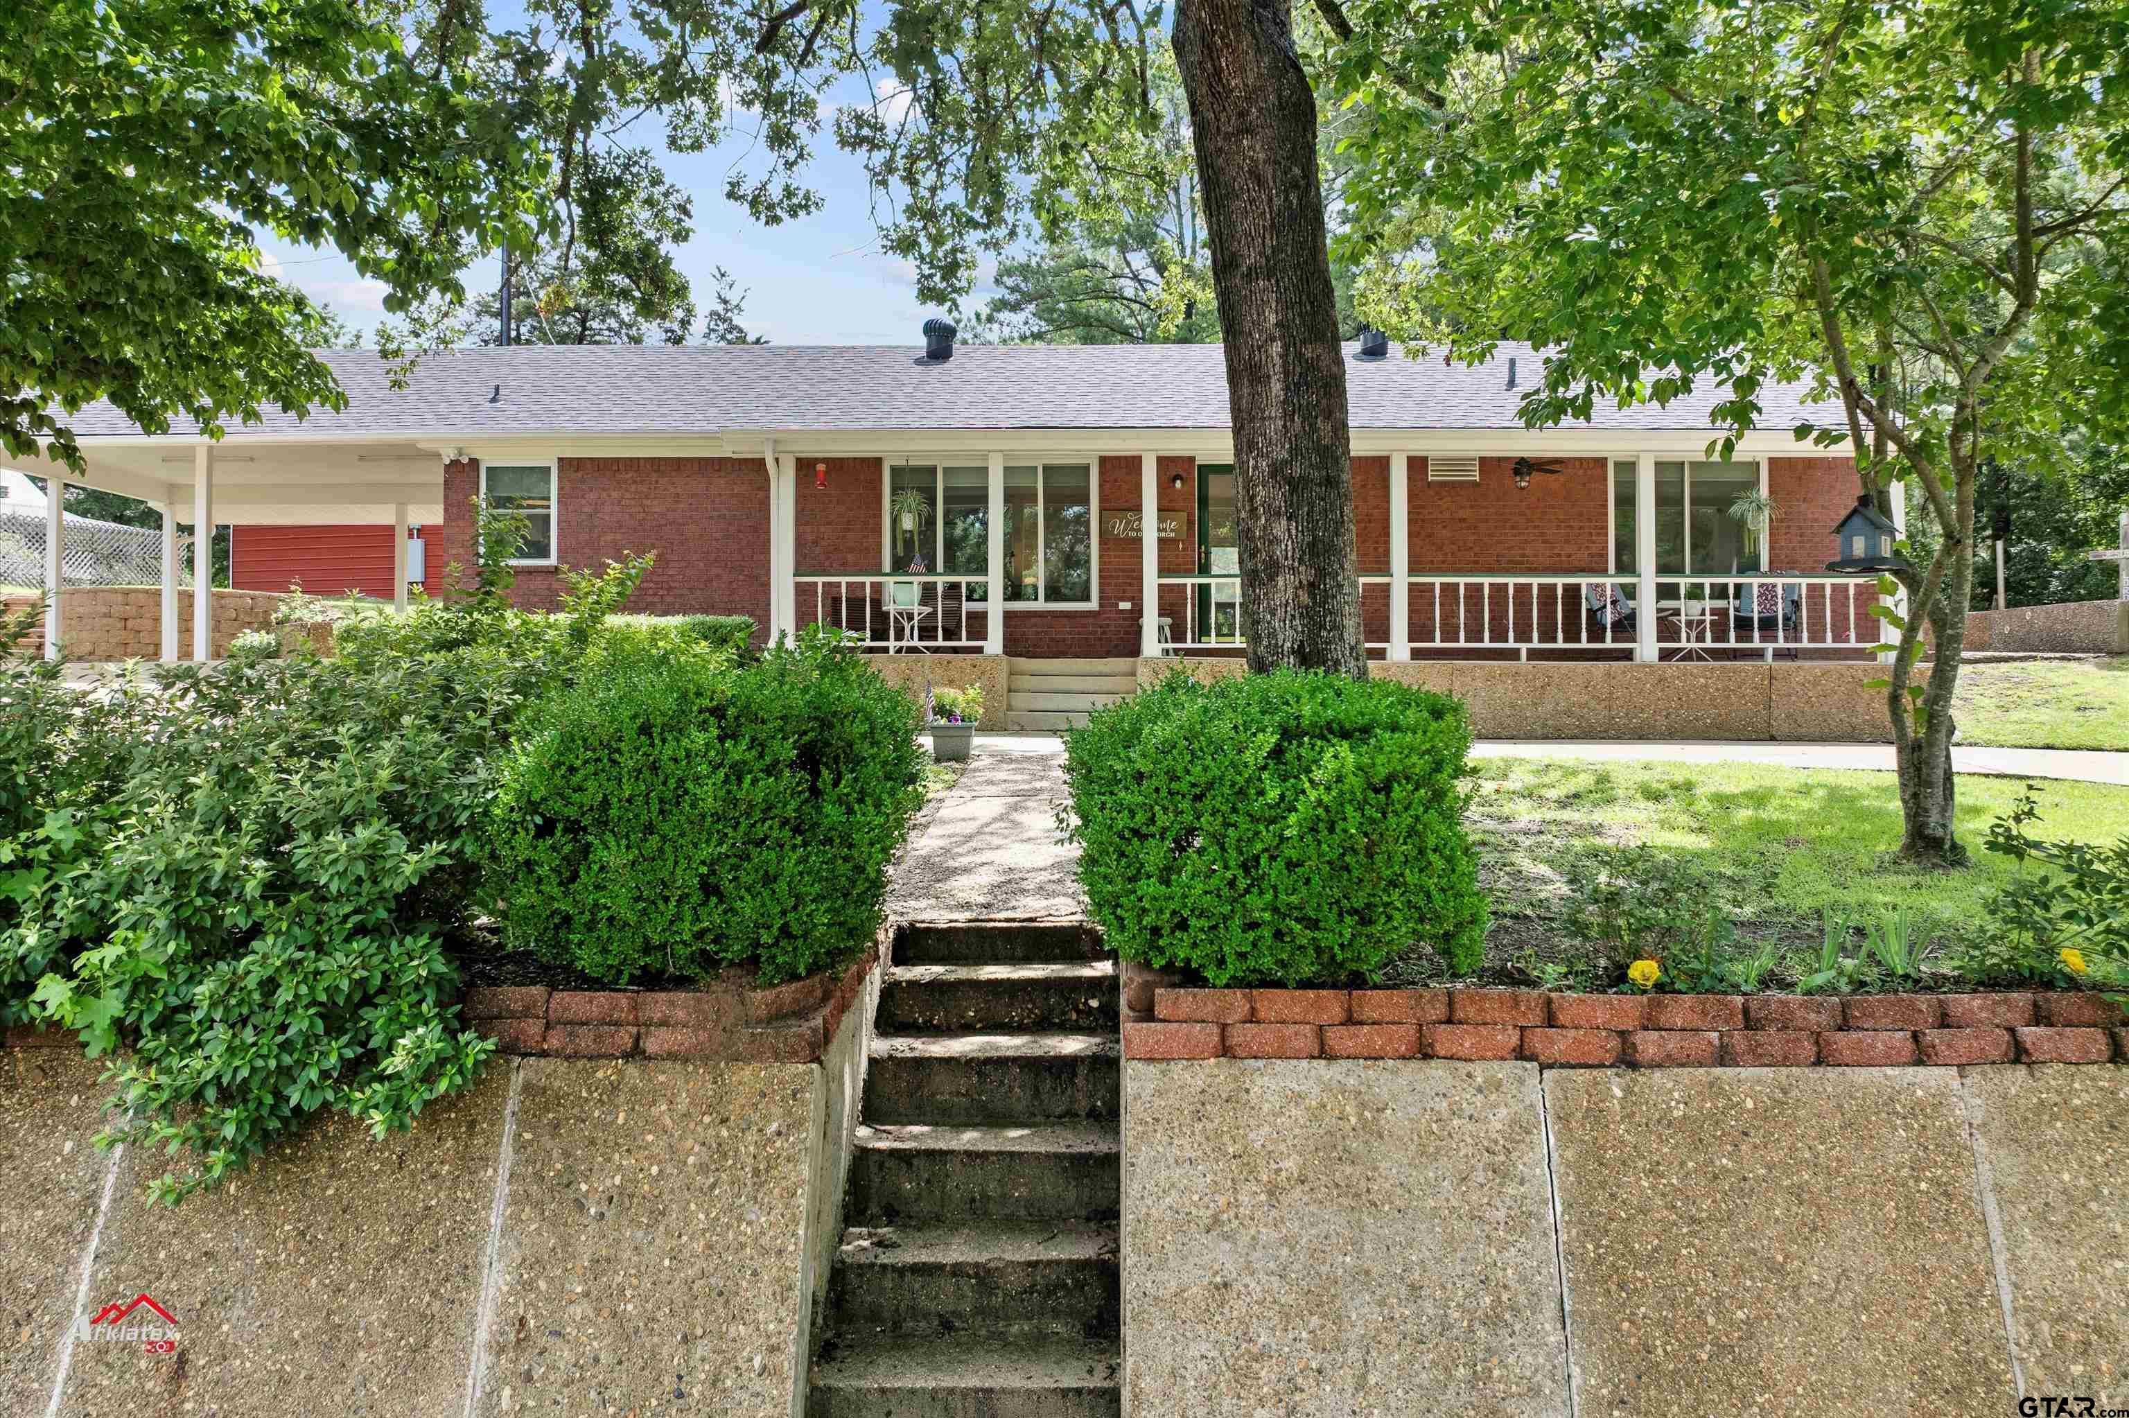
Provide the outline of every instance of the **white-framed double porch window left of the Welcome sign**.
[[[881,564],[901,573],[988,577],[990,466],[975,460],[901,460],[884,485]],[[1094,458],[1005,464],[1007,605],[1092,607],[1099,477]],[[971,600],[988,588],[971,583]]]

